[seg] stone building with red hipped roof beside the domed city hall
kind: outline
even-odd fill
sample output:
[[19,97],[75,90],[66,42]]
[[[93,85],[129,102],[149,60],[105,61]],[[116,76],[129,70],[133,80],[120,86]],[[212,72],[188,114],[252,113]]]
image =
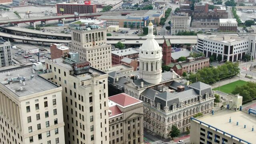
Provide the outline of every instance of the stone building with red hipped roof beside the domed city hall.
[[108,98],[109,144],[143,143],[143,102],[128,94]]

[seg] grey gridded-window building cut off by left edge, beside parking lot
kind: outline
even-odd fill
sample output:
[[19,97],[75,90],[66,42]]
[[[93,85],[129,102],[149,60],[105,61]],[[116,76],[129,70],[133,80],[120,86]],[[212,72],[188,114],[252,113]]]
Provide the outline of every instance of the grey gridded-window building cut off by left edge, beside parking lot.
[[11,43],[0,38],[0,67],[12,65]]

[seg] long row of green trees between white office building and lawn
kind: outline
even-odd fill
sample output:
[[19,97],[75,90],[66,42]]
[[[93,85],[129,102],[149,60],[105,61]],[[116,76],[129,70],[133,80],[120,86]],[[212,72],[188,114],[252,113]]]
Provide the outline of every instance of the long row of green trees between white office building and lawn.
[[190,74],[186,79],[190,82],[204,82],[206,84],[213,84],[224,78],[229,78],[239,74],[239,63],[226,62],[225,64],[218,66],[217,68],[203,68],[198,70],[197,73]]

